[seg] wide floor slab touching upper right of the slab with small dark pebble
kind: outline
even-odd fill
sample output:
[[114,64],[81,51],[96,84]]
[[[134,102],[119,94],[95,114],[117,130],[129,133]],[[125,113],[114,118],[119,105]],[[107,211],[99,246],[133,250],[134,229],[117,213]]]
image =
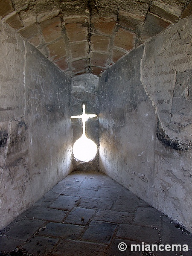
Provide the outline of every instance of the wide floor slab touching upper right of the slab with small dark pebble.
[[113,202],[108,200],[82,198],[79,207],[87,209],[111,209],[112,205]]

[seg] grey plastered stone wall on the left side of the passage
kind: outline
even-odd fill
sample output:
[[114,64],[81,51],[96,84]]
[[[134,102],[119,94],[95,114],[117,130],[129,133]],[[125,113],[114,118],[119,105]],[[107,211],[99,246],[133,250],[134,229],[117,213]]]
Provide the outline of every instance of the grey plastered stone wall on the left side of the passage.
[[0,228],[72,170],[71,79],[0,24]]

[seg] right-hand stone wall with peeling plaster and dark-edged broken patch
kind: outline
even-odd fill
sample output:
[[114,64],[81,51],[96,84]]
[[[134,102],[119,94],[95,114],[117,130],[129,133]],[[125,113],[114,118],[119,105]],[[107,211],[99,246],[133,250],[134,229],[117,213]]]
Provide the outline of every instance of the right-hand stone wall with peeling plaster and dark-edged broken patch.
[[192,17],[130,52],[99,81],[99,164],[192,231]]

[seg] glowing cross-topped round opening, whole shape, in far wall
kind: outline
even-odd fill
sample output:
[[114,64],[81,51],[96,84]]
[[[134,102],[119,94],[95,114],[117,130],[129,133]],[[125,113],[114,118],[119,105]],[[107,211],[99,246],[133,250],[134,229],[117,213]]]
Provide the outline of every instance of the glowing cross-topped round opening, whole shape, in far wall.
[[83,104],[83,113],[80,116],[71,116],[71,118],[80,118],[82,119],[82,125],[83,125],[83,134],[82,136],[76,140],[76,142],[73,145],[73,156],[76,160],[82,161],[82,162],[89,162],[90,160],[93,160],[93,158],[96,156],[97,153],[97,145],[94,143],[93,140],[90,140],[85,135],[85,126],[86,121],[89,118],[96,117],[95,114],[86,114],[85,113],[85,105]]

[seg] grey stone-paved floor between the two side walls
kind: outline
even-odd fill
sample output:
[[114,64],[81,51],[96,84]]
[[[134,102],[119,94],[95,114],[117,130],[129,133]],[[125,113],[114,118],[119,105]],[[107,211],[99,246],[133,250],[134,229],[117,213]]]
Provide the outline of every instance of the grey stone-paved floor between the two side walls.
[[[120,251],[119,243],[127,249]],[[142,244],[190,250],[149,253]],[[2,230],[0,251],[16,255],[16,247],[47,256],[192,256],[192,236],[108,176],[73,172]]]

